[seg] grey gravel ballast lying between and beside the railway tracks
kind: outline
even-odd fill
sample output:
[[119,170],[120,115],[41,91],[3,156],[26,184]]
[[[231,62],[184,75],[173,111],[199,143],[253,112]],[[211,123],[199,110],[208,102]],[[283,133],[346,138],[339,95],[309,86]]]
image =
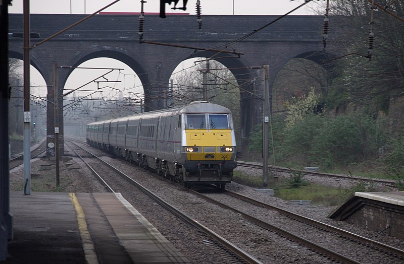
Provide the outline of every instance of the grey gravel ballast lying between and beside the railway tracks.
[[[221,234],[226,239],[234,241],[252,255],[257,256],[265,263],[284,263],[284,262],[299,262],[299,263],[323,263],[330,260],[318,255],[317,253],[308,250],[305,247],[298,246],[287,240],[280,239],[277,235],[261,234],[254,225],[246,222],[237,214],[223,211],[214,205],[207,205],[197,197],[188,194],[184,191],[177,190],[165,182],[160,182],[153,177],[147,176],[140,170],[131,167],[127,164],[121,164],[119,160],[103,157],[111,164],[120,164],[120,169],[136,178],[142,185],[147,188],[159,192],[161,197],[169,201],[173,205],[187,214],[200,220],[201,223],[209,225],[215,232]],[[72,161],[63,161],[60,163],[61,186],[56,187],[55,170],[44,170],[43,168],[49,164],[48,160],[34,159],[31,163],[32,176],[32,191],[68,191],[68,192],[105,192],[104,187],[94,180],[93,176],[85,165],[73,158]],[[53,165],[54,166],[54,165]],[[243,171],[243,174],[262,175],[261,170],[249,169],[245,167],[237,167],[236,170]],[[352,183],[348,180],[339,180],[307,177],[308,180],[314,181],[323,185],[331,185],[336,187],[350,187]],[[22,190],[23,170],[22,166],[13,169],[10,172],[10,189]],[[249,197],[253,197],[259,201],[293,211],[297,214],[304,215],[321,222],[340,227],[342,229],[370,237],[374,240],[389,244],[401,249],[404,249],[404,241],[388,236],[383,233],[375,233],[369,230],[359,228],[355,225],[344,221],[334,221],[327,216],[336,208],[323,205],[309,206],[293,206],[288,201],[283,201],[268,194],[257,192],[254,188],[232,182],[226,185],[226,188]],[[170,216],[164,213],[159,206],[147,200],[146,197],[140,197],[140,193],[133,190],[120,189],[125,197],[134,207],[142,213],[167,239],[169,239],[175,247],[181,250],[192,263],[213,263],[223,262],[219,256],[211,253],[209,246],[201,246],[204,238],[199,234],[193,234],[182,223],[172,220]],[[241,209],[241,208],[240,208]],[[249,208],[245,208],[248,211]],[[218,213],[219,212],[219,213]],[[224,214],[224,212],[226,212]],[[171,220],[168,220],[171,219]],[[226,223],[236,222],[237,226],[228,225]],[[237,230],[236,230],[237,229]],[[181,230],[181,232],[179,231]],[[369,263],[375,259],[368,260]],[[367,262],[366,260],[362,262]],[[389,260],[378,260],[380,263],[390,263]]]

